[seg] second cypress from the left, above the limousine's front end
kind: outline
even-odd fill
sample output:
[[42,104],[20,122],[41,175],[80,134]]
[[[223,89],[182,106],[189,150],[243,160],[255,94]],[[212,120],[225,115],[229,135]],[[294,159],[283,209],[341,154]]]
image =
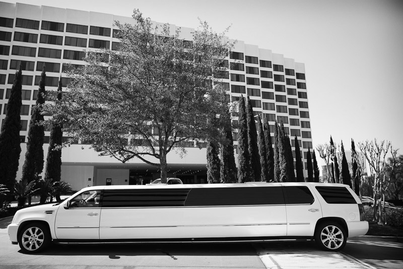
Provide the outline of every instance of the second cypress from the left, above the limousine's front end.
[[25,162],[22,167],[22,180],[26,182],[37,179],[38,175],[42,173],[43,170],[43,138],[45,131],[43,125],[41,125],[43,121],[41,111],[45,103],[45,80],[45,64],[43,64],[36,105],[32,110],[31,120],[29,122],[27,152],[25,153]]

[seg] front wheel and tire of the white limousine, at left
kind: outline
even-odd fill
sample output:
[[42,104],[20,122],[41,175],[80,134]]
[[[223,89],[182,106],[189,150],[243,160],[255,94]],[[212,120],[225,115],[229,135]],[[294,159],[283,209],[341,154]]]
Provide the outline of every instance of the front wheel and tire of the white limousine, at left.
[[38,222],[25,225],[18,235],[18,244],[24,253],[40,252],[49,246],[50,241],[49,228]]

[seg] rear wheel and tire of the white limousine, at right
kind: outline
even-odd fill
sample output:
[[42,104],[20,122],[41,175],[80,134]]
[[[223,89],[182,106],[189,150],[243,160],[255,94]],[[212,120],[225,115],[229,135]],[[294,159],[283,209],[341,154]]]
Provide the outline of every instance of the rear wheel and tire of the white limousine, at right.
[[347,243],[346,231],[336,222],[319,224],[314,237],[316,244],[326,251],[340,251]]

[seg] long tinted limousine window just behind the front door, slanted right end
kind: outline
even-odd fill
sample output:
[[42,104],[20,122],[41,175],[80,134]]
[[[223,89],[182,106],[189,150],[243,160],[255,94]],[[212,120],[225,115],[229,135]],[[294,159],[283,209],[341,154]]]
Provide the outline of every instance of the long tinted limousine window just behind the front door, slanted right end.
[[181,207],[190,189],[104,190],[102,207]]

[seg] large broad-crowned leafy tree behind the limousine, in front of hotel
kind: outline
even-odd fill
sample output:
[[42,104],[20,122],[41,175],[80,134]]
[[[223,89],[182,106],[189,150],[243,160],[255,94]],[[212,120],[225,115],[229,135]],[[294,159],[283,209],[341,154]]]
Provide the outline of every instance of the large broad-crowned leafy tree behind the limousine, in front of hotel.
[[88,141],[101,156],[139,158],[160,167],[166,182],[167,154],[184,151],[182,141],[222,138],[207,118],[226,107],[225,90],[211,80],[225,70],[232,44],[207,23],[183,40],[180,30],[155,26],[138,10],[133,19],[133,25],[115,23],[119,50],[88,53],[87,65],[71,74],[70,91],[50,110],[64,115],[69,136]]

